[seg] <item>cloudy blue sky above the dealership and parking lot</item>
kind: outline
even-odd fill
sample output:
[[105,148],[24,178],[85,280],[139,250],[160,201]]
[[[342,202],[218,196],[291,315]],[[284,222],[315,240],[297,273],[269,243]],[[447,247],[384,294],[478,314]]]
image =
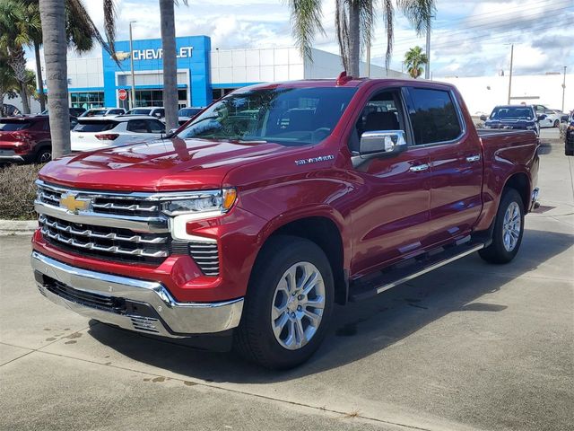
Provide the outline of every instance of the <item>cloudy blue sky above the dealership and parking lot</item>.
[[[100,28],[100,0],[84,1]],[[176,7],[178,36],[204,34],[213,48],[266,48],[292,46],[290,14],[283,0],[189,0]],[[517,74],[574,70],[574,0],[437,0],[431,32],[431,70],[439,76],[497,75],[509,69],[510,43],[515,44]],[[335,37],[335,2],[323,1],[326,37],[317,35],[315,48],[338,53]],[[117,0],[117,40],[128,37],[159,38],[158,0]],[[378,20],[371,49],[372,62],[384,64],[386,31]],[[395,49],[391,68],[401,70],[404,52],[424,47],[402,15],[396,16]]]

